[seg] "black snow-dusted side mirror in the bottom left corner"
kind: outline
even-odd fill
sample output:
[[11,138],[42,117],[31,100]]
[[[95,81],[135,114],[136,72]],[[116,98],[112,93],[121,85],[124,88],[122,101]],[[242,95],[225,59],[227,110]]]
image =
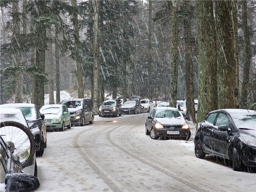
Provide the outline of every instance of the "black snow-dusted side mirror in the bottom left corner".
[[35,191],[39,188],[39,180],[30,174],[15,173],[5,178],[6,191]]

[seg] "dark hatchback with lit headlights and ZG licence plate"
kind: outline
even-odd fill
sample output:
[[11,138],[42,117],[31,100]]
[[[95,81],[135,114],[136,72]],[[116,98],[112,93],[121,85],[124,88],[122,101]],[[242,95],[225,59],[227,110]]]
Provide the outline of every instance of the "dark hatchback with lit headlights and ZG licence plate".
[[146,135],[150,135],[151,139],[167,137],[186,140],[191,135],[188,123],[180,111],[172,107],[153,108],[145,126]]

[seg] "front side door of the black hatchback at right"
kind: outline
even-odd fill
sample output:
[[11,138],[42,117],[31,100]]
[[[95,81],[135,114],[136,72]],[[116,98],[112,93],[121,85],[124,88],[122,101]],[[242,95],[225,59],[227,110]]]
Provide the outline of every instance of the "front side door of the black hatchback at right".
[[228,132],[220,131],[218,127],[220,125],[227,125],[230,128],[231,124],[228,116],[224,113],[219,113],[215,127],[211,132],[211,143],[214,154],[228,158],[228,145],[229,134]]

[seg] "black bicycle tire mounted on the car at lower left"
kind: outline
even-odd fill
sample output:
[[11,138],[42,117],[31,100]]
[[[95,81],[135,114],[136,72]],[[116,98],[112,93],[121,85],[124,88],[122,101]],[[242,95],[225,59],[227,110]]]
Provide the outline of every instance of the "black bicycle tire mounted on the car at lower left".
[[[19,122],[16,122],[16,121],[4,121],[4,122],[1,122],[1,123],[0,123],[0,129],[1,129],[0,134],[2,134],[2,127],[9,127],[9,128],[12,127],[12,131],[13,131],[13,127],[19,128],[20,130],[22,130],[22,131],[28,136],[29,143],[30,143],[29,153],[28,153],[28,156],[26,157],[26,159],[24,160],[24,162],[20,162],[22,168],[25,168],[26,165],[29,164],[29,163],[33,160],[33,157],[34,157],[34,155],[35,155],[35,153],[36,153],[36,142],[35,142],[34,135],[32,134],[32,132],[30,131],[30,129],[29,129],[28,127],[26,127],[25,125],[23,125],[23,124],[21,124],[21,123],[19,123]],[[19,130],[19,131],[20,131],[20,130]],[[10,131],[10,130],[9,130],[9,131]],[[15,131],[16,131],[16,130],[15,130]],[[4,130],[4,132],[5,132],[5,130]],[[8,133],[8,132],[7,132],[7,133]],[[10,132],[9,132],[9,133],[10,133]],[[14,134],[15,134],[15,133],[16,133],[16,132],[14,132]],[[18,133],[16,133],[16,135],[17,135],[17,134],[18,134]],[[15,135],[15,136],[16,136],[16,135]],[[12,135],[12,136],[13,136],[13,135]],[[12,137],[13,140],[14,140],[15,136]],[[6,139],[7,139],[6,137],[2,136],[2,138],[4,139],[5,142],[8,141],[8,140],[6,140]],[[11,138],[10,141],[12,141],[12,138]],[[15,138],[15,139],[18,140],[17,138]],[[18,142],[16,142],[16,144],[19,143],[19,142],[20,142],[20,140],[19,140]],[[15,146],[15,142],[13,142],[13,144],[14,144],[14,146]],[[16,152],[18,151],[17,148],[15,148],[15,150],[16,150]],[[14,152],[15,152],[15,150],[14,150]],[[20,153],[20,152],[18,152],[18,153]],[[16,154],[18,154],[18,153],[16,153]],[[14,154],[14,155],[16,155],[16,154]]]

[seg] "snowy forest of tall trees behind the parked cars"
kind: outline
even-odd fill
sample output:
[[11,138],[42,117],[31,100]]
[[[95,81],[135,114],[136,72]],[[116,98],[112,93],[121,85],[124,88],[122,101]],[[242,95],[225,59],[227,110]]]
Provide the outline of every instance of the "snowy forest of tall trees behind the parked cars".
[[[256,1],[6,0],[1,104],[60,103],[60,91],[185,99],[189,118],[256,110]],[[194,99],[198,99],[197,118]]]

